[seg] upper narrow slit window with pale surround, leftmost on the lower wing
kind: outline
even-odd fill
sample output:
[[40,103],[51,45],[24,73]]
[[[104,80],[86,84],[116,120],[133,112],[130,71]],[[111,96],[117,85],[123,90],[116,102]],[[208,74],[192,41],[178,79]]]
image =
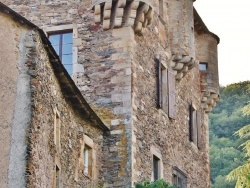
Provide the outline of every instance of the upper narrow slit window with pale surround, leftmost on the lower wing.
[[56,145],[56,152],[60,153],[61,150],[61,123],[58,112],[55,112],[55,120],[54,120],[54,142]]

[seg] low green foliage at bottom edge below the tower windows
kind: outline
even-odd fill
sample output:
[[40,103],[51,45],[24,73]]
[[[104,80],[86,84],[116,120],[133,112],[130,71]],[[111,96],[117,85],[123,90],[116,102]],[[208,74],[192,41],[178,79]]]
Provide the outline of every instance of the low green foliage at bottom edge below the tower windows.
[[145,180],[143,182],[137,183],[135,188],[176,188],[175,186],[165,182],[163,179],[150,182]]

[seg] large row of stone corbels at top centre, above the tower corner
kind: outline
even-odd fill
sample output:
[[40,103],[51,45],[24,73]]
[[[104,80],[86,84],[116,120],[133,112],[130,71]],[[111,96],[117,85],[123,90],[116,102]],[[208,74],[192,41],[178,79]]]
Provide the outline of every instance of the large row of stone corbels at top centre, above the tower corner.
[[151,24],[153,8],[138,0],[105,0],[94,3],[95,23],[101,23],[103,30],[132,26],[141,33]]

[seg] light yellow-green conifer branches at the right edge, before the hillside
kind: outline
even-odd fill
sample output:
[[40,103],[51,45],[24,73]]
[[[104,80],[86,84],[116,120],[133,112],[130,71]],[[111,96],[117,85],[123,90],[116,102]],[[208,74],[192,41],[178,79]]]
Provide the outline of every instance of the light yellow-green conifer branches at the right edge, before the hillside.
[[[245,116],[250,115],[249,104],[243,108],[243,114]],[[247,188],[247,187],[250,187],[250,124],[238,130],[236,134],[240,138],[247,139],[241,145],[243,147],[244,152],[246,153],[247,161],[243,165],[232,170],[228,174],[227,179],[229,181],[237,179],[235,188]]]

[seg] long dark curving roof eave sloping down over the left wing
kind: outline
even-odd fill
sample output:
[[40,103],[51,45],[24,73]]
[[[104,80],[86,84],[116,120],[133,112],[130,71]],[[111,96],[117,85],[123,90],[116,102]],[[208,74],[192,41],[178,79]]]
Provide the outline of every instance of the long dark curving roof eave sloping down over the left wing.
[[109,128],[102,122],[102,120],[90,107],[90,105],[82,96],[80,90],[75,85],[74,81],[71,79],[70,75],[62,65],[59,56],[55,52],[54,48],[52,47],[49,39],[46,37],[43,30],[1,2],[0,2],[0,12],[6,13],[10,17],[12,17],[13,20],[23,25],[26,25],[33,30],[38,31],[42,39],[43,45],[47,50],[51,66],[54,70],[56,78],[58,79],[63,96],[72,103],[72,105],[80,112],[80,114],[84,114],[84,117],[88,118],[88,120],[94,123],[95,126],[103,129],[104,131],[108,131]]

